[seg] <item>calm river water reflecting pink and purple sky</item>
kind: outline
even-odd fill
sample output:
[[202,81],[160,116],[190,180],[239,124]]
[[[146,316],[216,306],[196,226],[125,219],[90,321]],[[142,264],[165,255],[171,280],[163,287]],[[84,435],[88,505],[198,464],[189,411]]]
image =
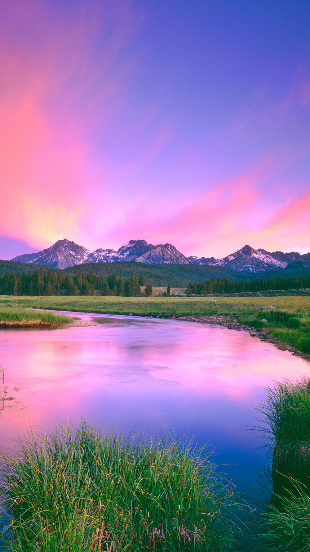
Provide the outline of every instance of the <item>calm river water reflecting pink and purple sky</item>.
[[167,428],[212,444],[237,490],[253,489],[253,505],[268,500],[268,489],[256,484],[260,440],[247,427],[264,387],[300,378],[307,362],[221,326],[78,316],[99,326],[0,331],[0,363],[14,397],[0,413],[2,446],[30,424],[52,427],[80,416],[103,427]]

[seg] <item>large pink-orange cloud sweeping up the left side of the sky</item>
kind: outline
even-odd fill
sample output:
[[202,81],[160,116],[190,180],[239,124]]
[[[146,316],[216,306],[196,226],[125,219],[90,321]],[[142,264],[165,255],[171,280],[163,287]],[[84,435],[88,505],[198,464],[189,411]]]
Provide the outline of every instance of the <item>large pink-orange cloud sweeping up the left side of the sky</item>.
[[[121,105],[117,91],[132,60],[119,56],[141,18],[133,18],[129,3],[95,2],[93,9],[85,3],[78,17],[73,12],[47,28],[48,4],[34,7],[14,2],[7,10],[10,24],[23,17],[34,23],[33,43],[12,45],[6,33],[0,40],[0,233],[43,247],[78,235],[92,208],[92,186],[115,171],[107,157],[95,161],[89,133],[109,126]],[[99,47],[98,25],[108,19]],[[106,201],[106,187],[97,191],[97,200]]]

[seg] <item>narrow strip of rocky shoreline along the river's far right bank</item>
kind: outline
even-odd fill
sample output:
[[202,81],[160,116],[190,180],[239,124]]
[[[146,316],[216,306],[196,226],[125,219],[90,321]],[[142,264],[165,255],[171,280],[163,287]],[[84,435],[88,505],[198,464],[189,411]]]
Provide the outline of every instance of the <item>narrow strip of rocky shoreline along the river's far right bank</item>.
[[236,331],[246,331],[249,332],[250,336],[258,337],[261,341],[266,341],[272,343],[280,351],[289,351],[296,357],[301,357],[304,360],[310,361],[310,354],[302,353],[298,351],[295,347],[292,347],[289,344],[282,343],[273,337],[269,336],[270,330],[266,328],[265,330],[256,331],[255,328],[250,326],[245,326],[240,324],[237,319],[229,320],[226,316],[223,315],[204,315],[204,316],[170,316],[169,318],[184,320],[188,322],[199,322],[201,324],[217,324],[228,328],[228,330]]

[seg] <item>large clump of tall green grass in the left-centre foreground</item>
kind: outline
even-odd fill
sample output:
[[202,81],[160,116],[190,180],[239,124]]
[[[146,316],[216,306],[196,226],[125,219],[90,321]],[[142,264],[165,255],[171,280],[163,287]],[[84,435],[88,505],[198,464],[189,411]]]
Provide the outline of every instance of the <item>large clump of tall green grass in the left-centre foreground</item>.
[[186,443],[124,440],[82,421],[20,446],[1,489],[15,551],[233,549],[232,492]]

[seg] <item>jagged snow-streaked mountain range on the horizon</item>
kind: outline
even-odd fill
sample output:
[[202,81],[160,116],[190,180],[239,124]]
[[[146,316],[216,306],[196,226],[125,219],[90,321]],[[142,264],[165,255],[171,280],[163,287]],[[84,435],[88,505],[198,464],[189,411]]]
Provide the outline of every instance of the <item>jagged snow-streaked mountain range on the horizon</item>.
[[264,249],[255,250],[249,245],[223,257],[185,257],[171,243],[152,245],[145,240],[130,240],[119,250],[99,248],[89,251],[73,241],[58,240],[54,245],[38,253],[26,253],[11,259],[20,263],[47,264],[57,268],[73,267],[83,263],[137,262],[147,264],[206,264],[227,267],[239,272],[256,273],[275,268],[310,268],[310,253],[273,253]]

